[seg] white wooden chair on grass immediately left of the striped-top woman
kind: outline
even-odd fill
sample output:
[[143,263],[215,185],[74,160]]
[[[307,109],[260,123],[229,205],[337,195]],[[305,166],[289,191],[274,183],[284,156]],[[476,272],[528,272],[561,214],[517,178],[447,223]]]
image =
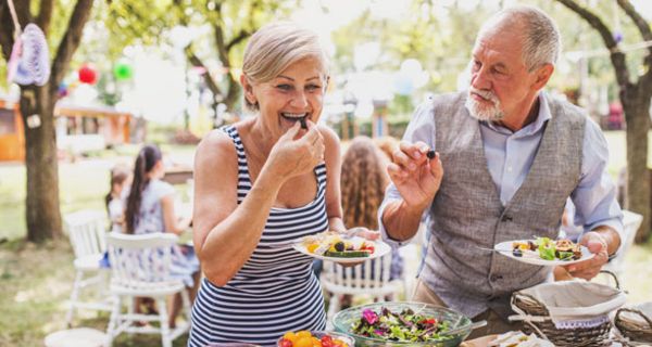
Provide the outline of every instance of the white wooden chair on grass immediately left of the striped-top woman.
[[[164,347],[172,347],[172,340],[188,332],[190,327],[190,299],[181,280],[171,277],[172,247],[177,236],[171,233],[151,233],[131,235],[109,233],[109,258],[111,260],[110,290],[115,303],[109,322],[108,343],[123,332],[140,334],[161,334]],[[167,322],[165,298],[180,293],[183,312],[186,321],[171,330]],[[136,297],[152,297],[156,301],[158,316],[140,314],[134,310]],[[122,311],[122,303],[127,311]],[[159,322],[160,327],[138,326],[138,322]]]

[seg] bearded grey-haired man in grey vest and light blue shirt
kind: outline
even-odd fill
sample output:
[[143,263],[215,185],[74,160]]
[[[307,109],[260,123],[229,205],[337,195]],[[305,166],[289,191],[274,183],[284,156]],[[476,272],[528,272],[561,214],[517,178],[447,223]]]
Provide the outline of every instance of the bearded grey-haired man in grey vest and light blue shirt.
[[[552,279],[552,269],[480,247],[556,237],[568,196],[586,230],[581,244],[595,256],[565,271],[590,280],[620,244],[622,211],[600,128],[542,91],[559,51],[559,30],[540,10],[494,15],[473,49],[468,91],[419,106],[388,166],[384,239],[401,245],[428,217],[414,300],[487,319],[482,334],[517,329],[506,321],[511,294]],[[429,149],[436,157],[427,157]]]

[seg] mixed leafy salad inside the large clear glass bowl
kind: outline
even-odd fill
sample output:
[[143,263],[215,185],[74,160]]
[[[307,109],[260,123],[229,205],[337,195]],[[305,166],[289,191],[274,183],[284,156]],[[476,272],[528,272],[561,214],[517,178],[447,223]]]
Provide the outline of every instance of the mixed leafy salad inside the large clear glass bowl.
[[352,327],[358,335],[393,342],[440,342],[453,337],[441,335],[449,330],[449,322],[439,322],[410,308],[394,313],[383,307],[379,314],[366,309]]

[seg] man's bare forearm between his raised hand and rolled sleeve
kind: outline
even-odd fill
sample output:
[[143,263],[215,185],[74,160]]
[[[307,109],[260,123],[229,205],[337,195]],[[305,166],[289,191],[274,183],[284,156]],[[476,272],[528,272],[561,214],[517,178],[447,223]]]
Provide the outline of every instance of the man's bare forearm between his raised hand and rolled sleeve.
[[405,205],[403,200],[391,202],[383,211],[383,226],[387,234],[397,241],[408,240],[418,231],[424,208]]

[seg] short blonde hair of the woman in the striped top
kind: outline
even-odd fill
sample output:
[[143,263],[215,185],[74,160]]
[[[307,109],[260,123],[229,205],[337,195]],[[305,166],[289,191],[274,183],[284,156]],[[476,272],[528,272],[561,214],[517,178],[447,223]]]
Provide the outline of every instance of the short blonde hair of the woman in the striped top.
[[[276,22],[263,26],[249,39],[242,74],[250,83],[266,82],[304,59],[316,60],[324,75],[328,75],[328,59],[318,36],[294,23]],[[244,106],[258,111],[258,104],[247,98]]]

